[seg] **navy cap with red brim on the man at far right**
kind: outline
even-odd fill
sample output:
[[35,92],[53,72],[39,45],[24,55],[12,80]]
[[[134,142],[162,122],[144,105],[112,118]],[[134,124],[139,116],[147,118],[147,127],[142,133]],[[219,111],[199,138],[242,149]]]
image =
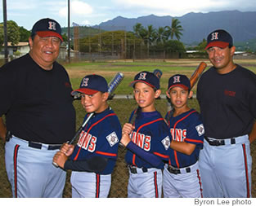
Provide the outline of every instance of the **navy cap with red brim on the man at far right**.
[[207,50],[211,46],[218,46],[220,48],[226,48],[227,46],[233,46],[233,38],[230,33],[223,29],[218,29],[210,33],[207,37]]

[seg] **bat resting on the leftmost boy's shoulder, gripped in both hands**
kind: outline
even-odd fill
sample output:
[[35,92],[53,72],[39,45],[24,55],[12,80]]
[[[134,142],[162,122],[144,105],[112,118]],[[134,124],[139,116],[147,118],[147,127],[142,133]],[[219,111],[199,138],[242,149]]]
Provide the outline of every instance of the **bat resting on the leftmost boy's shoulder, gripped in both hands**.
[[[110,95],[113,94],[113,92],[115,91],[115,89],[117,88],[117,86],[120,84],[120,82],[124,79],[124,73],[122,72],[117,72],[115,77],[112,78],[112,80],[110,81],[110,83],[108,84],[108,93],[109,93],[109,99],[110,99]],[[73,144],[74,140],[79,136],[79,134],[81,133],[83,127],[88,124],[88,121],[92,118],[92,116],[94,115],[94,112],[90,113],[90,115],[88,116],[88,118],[86,119],[86,121],[83,122],[83,124],[79,127],[79,129],[77,130],[77,132],[74,134],[74,138],[72,138],[69,142],[69,144]],[[52,162],[52,164],[54,164],[56,167],[58,167],[58,164],[56,164],[56,162]]]

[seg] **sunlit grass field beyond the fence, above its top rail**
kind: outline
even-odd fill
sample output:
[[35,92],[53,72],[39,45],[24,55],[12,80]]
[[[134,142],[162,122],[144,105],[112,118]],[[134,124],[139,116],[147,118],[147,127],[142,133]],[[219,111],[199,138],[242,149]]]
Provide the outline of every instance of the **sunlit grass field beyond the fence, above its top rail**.
[[[207,64],[208,69],[211,64],[208,60],[203,59]],[[143,70],[153,72],[155,68],[159,68],[163,72],[160,85],[162,92],[165,92],[168,85],[168,78],[173,74],[182,73],[191,77],[191,74],[195,71],[195,68],[200,64],[202,59],[177,59],[173,61],[165,62],[132,62],[132,61],[115,61],[115,62],[100,62],[100,63],[75,63],[66,64],[65,68],[70,74],[73,88],[79,87],[81,78],[85,75],[96,73],[106,77],[107,81],[110,81],[115,76],[116,72],[124,72],[124,80],[115,91],[116,94],[130,94],[132,88],[128,87],[128,83],[133,80],[133,77],[137,72]],[[237,64],[244,65],[253,72],[256,72],[256,60],[236,60]],[[196,86],[194,87],[194,91]]]

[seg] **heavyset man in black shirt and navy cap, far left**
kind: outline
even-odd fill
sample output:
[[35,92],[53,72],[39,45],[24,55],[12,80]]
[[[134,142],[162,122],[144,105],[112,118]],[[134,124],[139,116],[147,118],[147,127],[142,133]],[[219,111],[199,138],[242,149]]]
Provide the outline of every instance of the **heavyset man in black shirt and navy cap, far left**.
[[62,41],[56,20],[38,20],[29,54],[0,68],[0,135],[14,197],[62,196],[65,171],[52,158],[75,130],[70,78],[56,62]]

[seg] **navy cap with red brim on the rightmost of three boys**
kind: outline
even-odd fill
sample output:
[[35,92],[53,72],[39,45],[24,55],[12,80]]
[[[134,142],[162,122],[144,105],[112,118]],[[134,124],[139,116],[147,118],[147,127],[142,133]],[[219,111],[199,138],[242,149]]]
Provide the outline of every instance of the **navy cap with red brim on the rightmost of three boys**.
[[175,74],[168,80],[168,90],[171,90],[174,86],[182,87],[184,90],[191,90],[191,81],[186,75]]

